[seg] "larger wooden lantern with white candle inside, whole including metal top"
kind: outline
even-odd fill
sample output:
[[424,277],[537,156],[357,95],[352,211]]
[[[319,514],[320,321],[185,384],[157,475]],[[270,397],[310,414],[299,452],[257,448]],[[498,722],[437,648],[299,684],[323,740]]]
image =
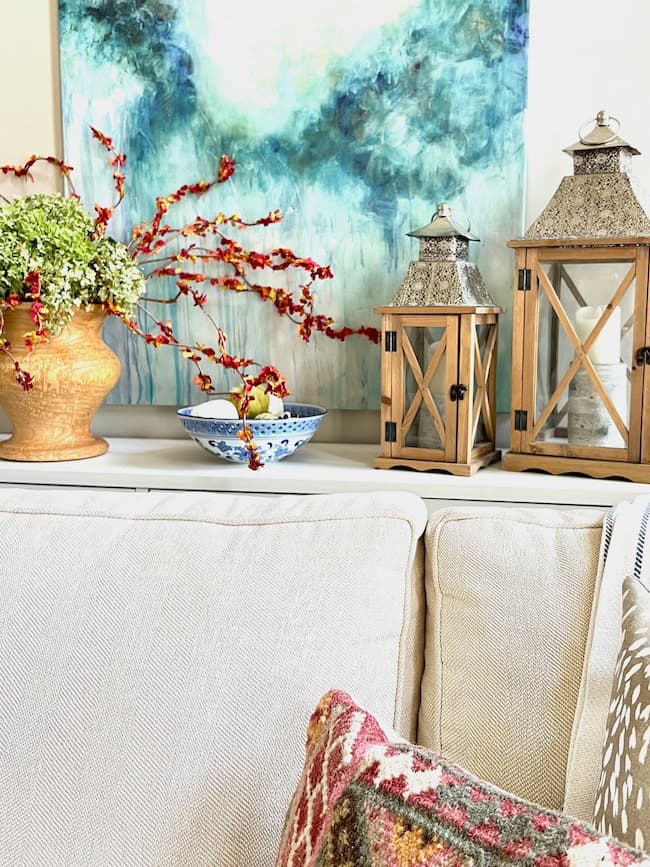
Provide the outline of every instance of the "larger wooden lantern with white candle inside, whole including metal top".
[[628,174],[639,152],[617,130],[598,114],[566,149],[574,174],[524,239],[509,242],[508,470],[650,482],[650,218]]

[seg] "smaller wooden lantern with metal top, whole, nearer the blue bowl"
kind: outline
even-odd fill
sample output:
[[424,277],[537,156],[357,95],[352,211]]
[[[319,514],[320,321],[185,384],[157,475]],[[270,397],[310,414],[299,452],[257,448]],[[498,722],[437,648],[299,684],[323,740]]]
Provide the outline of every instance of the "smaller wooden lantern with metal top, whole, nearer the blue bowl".
[[375,467],[468,476],[495,449],[497,318],[447,205],[409,235],[420,258],[382,315],[381,453]]

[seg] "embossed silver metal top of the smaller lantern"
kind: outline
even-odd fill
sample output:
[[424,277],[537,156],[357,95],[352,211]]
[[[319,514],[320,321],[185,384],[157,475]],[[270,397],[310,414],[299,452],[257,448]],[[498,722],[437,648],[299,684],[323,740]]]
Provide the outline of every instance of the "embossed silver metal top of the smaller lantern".
[[391,306],[494,306],[477,266],[469,261],[469,242],[479,239],[465,221],[463,228],[442,202],[430,223],[407,233],[420,239],[420,258],[409,264]]

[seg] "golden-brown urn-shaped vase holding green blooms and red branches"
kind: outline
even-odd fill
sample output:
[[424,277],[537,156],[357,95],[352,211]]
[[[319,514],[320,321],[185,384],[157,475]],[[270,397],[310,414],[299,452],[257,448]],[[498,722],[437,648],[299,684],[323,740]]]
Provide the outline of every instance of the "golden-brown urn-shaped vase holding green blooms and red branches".
[[11,359],[0,353],[0,407],[13,434],[0,443],[0,458],[10,461],[72,461],[108,449],[90,432],[90,423],[120,376],[120,362],[102,340],[106,313],[101,307],[79,310],[60,334],[27,352],[23,336],[34,330],[30,305],[5,312],[3,335],[21,367],[34,377],[23,391]]

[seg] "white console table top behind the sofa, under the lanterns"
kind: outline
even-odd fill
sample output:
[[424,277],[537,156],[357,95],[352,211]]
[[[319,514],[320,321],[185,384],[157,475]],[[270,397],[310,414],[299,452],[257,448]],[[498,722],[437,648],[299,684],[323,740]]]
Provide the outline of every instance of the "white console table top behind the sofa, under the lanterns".
[[111,438],[101,457],[61,463],[0,461],[0,484],[221,491],[246,494],[317,494],[411,491],[430,508],[459,503],[561,505],[607,508],[650,485],[582,476],[506,472],[501,464],[471,478],[413,470],[376,470],[376,445],[309,443],[294,455],[253,472],[211,457],[189,439]]

